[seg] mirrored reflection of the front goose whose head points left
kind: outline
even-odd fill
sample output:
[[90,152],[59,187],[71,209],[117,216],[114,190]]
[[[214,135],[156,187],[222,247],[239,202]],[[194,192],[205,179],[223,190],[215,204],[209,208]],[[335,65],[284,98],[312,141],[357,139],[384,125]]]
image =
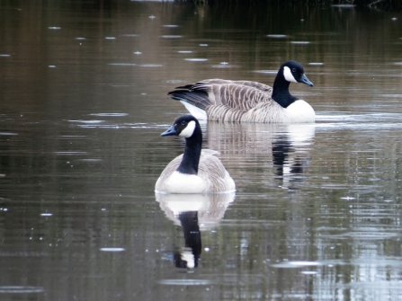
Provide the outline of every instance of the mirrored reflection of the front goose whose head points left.
[[218,226],[234,199],[234,192],[209,195],[156,193],[156,201],[166,217],[183,229],[184,245],[173,256],[176,268],[197,268],[202,249],[201,230]]

